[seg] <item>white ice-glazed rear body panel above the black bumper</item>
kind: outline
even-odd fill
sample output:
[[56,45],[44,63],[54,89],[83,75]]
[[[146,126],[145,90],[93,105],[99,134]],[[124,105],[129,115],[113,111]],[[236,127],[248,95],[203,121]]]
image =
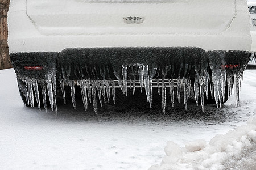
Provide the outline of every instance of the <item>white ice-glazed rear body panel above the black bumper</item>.
[[[125,23],[130,16],[143,22]],[[11,0],[8,24],[10,53],[126,46],[251,49],[242,0]]]

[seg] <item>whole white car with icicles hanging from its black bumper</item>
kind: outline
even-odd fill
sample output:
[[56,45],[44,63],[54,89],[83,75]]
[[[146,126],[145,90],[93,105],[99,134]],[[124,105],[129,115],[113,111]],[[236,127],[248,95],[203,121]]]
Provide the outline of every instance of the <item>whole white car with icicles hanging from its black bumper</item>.
[[57,90],[65,100],[68,86],[76,108],[80,87],[85,108],[92,100],[97,112],[102,97],[112,93],[114,103],[115,88],[127,95],[129,82],[145,89],[150,107],[152,88],[162,87],[163,112],[167,87],[172,104],[183,87],[185,109],[193,87],[204,109],[204,99],[221,107],[235,84],[238,105],[250,59],[244,0],[12,0],[8,24],[24,103],[35,98],[40,109],[49,100],[56,112]]

